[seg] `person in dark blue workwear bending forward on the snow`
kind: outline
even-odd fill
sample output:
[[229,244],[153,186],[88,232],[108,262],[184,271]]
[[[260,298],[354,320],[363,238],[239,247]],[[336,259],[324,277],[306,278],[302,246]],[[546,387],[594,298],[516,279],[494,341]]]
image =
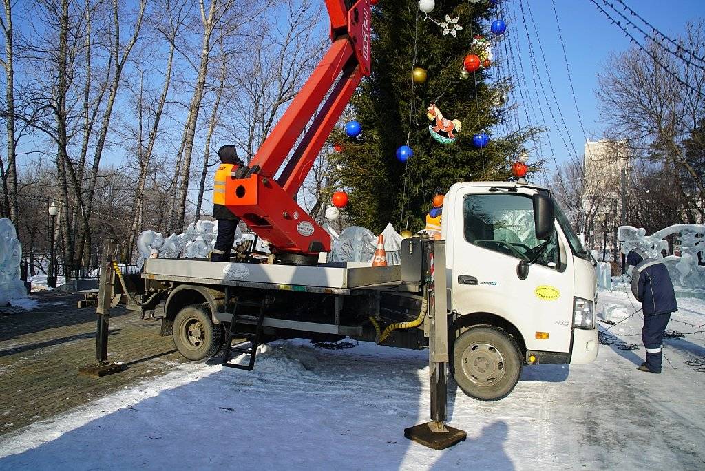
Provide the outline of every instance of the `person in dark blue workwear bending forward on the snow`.
[[626,265],[632,268],[632,293],[642,303],[644,328],[642,341],[646,348],[646,361],[637,369],[642,372],[661,373],[661,341],[670,319],[678,310],[673,282],[666,265],[646,257],[639,250],[627,254]]

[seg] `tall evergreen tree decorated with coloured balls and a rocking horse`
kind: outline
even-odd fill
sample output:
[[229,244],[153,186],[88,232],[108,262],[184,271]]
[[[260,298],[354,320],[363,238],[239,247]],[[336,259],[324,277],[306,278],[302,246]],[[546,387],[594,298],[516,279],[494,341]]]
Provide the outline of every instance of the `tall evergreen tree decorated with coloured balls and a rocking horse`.
[[[351,140],[336,130],[331,140],[342,142],[343,152],[331,157],[338,164],[336,178],[350,196],[346,213],[351,224],[375,233],[388,222],[397,231],[418,231],[424,227],[434,195],[446,193],[453,183],[507,179],[508,157],[515,157],[536,130],[510,136],[493,133],[508,118],[508,106],[498,101],[508,91],[508,81],[489,83],[486,69],[460,77],[475,35],[484,35],[489,47],[498,48],[499,42],[494,44],[494,37],[484,30],[489,18],[496,18],[488,1],[436,4],[430,16],[459,17],[462,30],[456,37],[442,35],[442,27],[424,20],[416,0],[380,0],[372,10],[372,75],[362,81],[351,100],[362,135]],[[422,84],[412,81],[415,54],[417,66],[428,72]],[[431,137],[429,124],[434,122],[427,118],[431,103],[445,118],[462,122],[452,144]],[[491,142],[477,149],[472,136],[481,130],[491,136]],[[395,153],[407,141],[414,155],[403,163]]]

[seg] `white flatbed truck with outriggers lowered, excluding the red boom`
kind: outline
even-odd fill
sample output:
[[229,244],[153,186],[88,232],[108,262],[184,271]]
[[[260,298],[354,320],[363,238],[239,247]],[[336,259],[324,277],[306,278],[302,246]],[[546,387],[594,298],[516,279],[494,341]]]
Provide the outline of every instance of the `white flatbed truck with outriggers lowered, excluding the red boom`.
[[[407,436],[445,447],[465,436],[445,424],[446,363],[468,396],[498,400],[523,365],[591,362],[599,341],[591,257],[548,190],[456,183],[441,238],[403,240],[401,264],[390,267],[266,264],[247,252],[231,263],[147,259],[128,308],[161,317],[184,357],[224,351],[223,365],[242,369],[276,338],[380,341],[393,329],[383,345],[429,349],[432,420]],[[121,278],[102,270],[98,368],[109,369],[106,307]]]

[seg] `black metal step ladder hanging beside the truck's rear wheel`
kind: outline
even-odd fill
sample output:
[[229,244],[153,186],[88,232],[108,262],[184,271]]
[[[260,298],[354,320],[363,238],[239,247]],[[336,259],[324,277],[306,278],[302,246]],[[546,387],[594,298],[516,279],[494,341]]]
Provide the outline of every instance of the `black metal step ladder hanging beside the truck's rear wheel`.
[[[264,307],[266,305],[266,298],[262,299],[259,302],[253,302],[253,301],[243,301],[240,300],[240,298],[235,298],[235,306],[233,307],[233,319],[230,322],[230,328],[228,329],[226,333],[226,338],[225,338],[225,355],[223,355],[223,366],[228,367],[228,368],[237,368],[237,369],[245,369],[248,372],[252,371],[252,369],[255,368],[255,356],[257,355],[257,347],[259,346],[259,340],[262,337],[262,322],[264,321]],[[259,307],[259,314],[255,318],[257,319],[257,323],[255,324],[255,332],[245,332],[245,331],[240,331],[238,330],[238,326],[242,325],[252,325],[252,321],[250,322],[243,322],[243,320],[246,319],[253,319],[253,316],[248,316],[246,314],[238,314],[238,310],[240,307]],[[240,341],[235,344],[233,347],[232,342],[233,338],[236,339],[245,339],[245,341]],[[247,343],[250,343],[250,347],[243,347],[242,345],[246,345]],[[245,355],[250,355],[250,362],[245,364],[245,365],[238,365],[237,363],[230,363],[230,360],[235,357],[231,357],[231,353],[235,353],[237,355],[238,353],[244,353]]]

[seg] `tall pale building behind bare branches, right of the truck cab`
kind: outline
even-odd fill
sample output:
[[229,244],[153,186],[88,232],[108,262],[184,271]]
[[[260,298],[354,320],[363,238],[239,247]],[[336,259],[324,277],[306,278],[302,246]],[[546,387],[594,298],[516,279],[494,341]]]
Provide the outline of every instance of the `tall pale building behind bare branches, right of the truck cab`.
[[[597,140],[585,142],[585,185],[582,211],[591,233],[586,234],[590,248],[604,247],[607,227],[607,247],[614,249],[616,233],[622,212],[621,179],[623,169],[632,166],[632,155],[626,142]],[[628,181],[627,181],[628,187]],[[601,251],[600,251],[601,256]]]

